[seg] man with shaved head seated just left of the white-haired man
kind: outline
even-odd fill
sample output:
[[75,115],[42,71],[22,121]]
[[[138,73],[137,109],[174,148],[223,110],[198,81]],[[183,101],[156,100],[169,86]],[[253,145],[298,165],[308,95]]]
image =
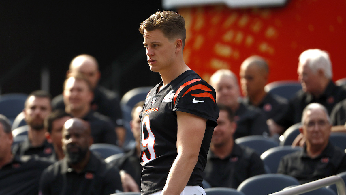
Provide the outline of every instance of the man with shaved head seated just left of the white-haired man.
[[[265,113],[267,119],[276,119],[288,106],[288,100],[264,91],[268,83],[269,67],[265,59],[251,56],[240,66],[240,83],[246,105],[253,105]],[[282,132],[271,132],[271,135]]]

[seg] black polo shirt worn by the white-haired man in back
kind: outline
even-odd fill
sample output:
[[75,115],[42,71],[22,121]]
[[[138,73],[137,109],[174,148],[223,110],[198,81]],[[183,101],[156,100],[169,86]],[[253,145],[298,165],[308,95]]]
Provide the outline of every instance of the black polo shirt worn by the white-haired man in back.
[[302,90],[298,91],[295,96],[290,99],[288,109],[286,109],[285,113],[274,121],[287,129],[290,126],[301,122],[303,110],[309,103],[317,102],[324,105],[330,114],[335,104],[344,100],[345,98],[346,89],[336,86],[330,80],[326,90],[319,98],[314,97],[310,93],[305,93]]

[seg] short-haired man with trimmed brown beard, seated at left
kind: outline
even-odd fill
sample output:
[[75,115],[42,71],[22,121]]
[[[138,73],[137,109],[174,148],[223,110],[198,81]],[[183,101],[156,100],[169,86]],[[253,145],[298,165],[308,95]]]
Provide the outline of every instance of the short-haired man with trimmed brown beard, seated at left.
[[43,125],[45,117],[51,111],[51,94],[41,90],[29,94],[23,109],[28,125],[13,130],[20,132],[27,130],[28,139],[13,146],[13,154],[19,156],[37,154],[41,157],[47,157],[53,153],[53,145],[47,142],[46,129]]

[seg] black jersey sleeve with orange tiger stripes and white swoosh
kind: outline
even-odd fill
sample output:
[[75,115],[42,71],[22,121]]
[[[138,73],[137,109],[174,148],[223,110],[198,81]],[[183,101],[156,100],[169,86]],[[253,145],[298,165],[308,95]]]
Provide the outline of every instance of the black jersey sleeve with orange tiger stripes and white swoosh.
[[215,90],[201,79],[193,79],[181,85],[173,97],[175,111],[188,112],[207,119],[207,126],[217,126],[219,109],[215,102]]

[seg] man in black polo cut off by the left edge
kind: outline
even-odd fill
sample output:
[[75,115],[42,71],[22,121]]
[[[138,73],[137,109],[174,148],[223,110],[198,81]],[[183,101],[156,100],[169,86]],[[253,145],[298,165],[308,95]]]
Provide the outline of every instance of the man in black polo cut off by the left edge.
[[37,195],[40,175],[52,163],[12,155],[12,143],[10,121],[0,115],[0,194]]

